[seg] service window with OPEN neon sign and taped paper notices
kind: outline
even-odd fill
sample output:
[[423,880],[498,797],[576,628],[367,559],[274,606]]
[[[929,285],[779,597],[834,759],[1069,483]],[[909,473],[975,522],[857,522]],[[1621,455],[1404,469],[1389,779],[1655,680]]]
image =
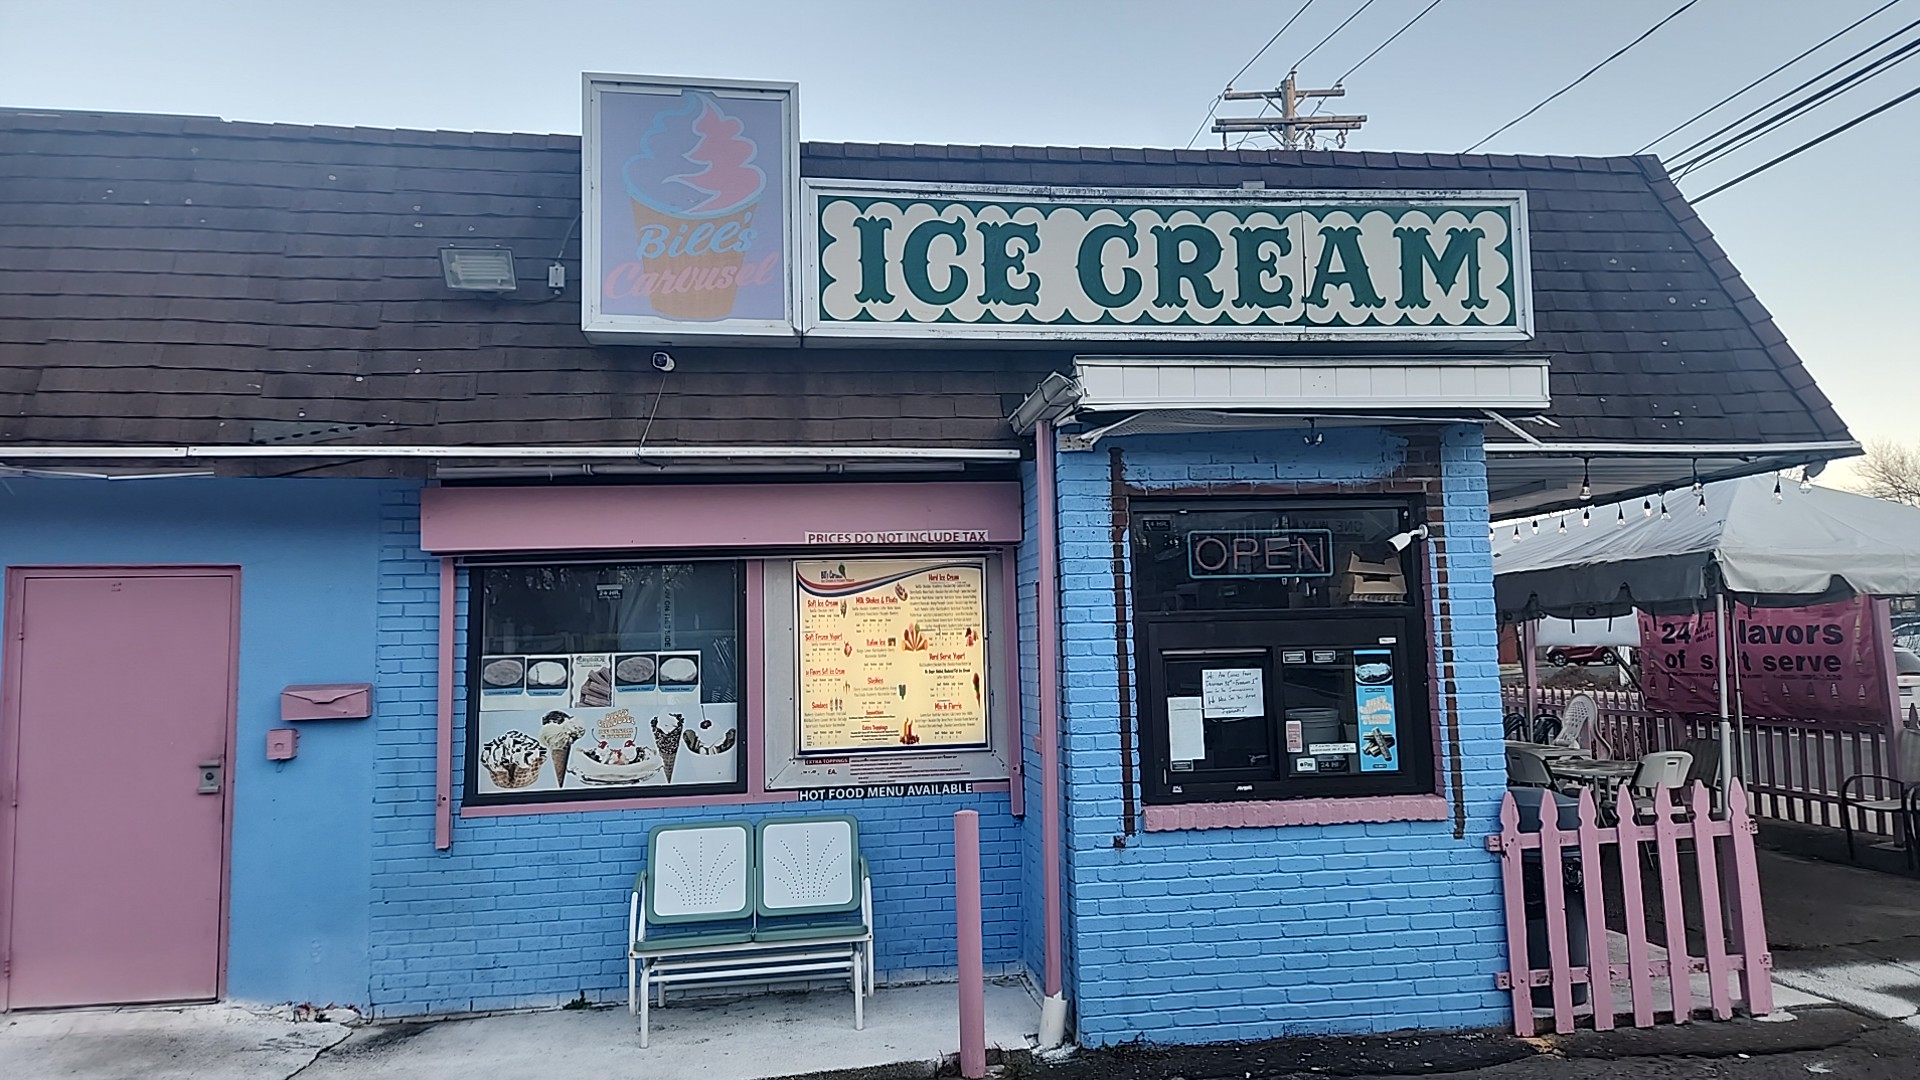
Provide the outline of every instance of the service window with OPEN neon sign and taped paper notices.
[[1148,801],[1432,790],[1417,513],[1135,500]]

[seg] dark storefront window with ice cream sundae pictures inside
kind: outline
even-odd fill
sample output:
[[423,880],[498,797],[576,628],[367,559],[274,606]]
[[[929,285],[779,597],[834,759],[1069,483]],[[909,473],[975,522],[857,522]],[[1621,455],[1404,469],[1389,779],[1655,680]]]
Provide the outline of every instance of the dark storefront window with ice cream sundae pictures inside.
[[745,790],[737,561],[474,567],[472,801]]

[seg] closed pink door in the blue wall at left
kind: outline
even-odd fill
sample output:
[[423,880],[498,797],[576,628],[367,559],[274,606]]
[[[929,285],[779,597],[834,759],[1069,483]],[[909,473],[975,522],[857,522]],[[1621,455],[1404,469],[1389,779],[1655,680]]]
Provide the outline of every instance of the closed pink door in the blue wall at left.
[[0,1007],[217,997],[238,571],[17,569]]

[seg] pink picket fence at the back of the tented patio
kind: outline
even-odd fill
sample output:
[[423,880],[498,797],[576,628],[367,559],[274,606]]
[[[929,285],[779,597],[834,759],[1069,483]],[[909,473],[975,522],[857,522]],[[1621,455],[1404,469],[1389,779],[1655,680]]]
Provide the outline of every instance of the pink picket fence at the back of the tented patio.
[[[1590,694],[1599,705],[1592,746],[1609,757],[1630,761],[1655,749],[1682,749],[1690,740],[1715,738],[1718,717],[1676,717],[1647,711],[1632,690],[1536,690],[1540,711],[1559,713],[1574,694]],[[1526,690],[1503,686],[1507,713],[1526,709]],[[1884,730],[1834,730],[1805,721],[1747,717],[1741,724],[1740,773],[1747,784],[1751,809],[1759,817],[1839,828],[1839,786],[1847,776],[1893,771],[1889,736]],[[1908,776],[1907,780],[1920,780]],[[1853,811],[1853,828],[1895,836],[1895,815]]]

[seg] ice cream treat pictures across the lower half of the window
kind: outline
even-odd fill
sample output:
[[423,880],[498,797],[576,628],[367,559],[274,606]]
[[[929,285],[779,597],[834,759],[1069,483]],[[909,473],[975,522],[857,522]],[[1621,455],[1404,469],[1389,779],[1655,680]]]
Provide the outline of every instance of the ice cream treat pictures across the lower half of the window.
[[699,651],[480,657],[476,794],[730,784],[739,707]]

